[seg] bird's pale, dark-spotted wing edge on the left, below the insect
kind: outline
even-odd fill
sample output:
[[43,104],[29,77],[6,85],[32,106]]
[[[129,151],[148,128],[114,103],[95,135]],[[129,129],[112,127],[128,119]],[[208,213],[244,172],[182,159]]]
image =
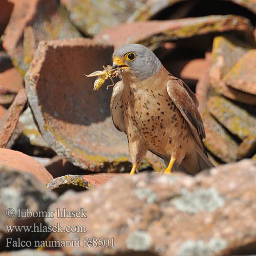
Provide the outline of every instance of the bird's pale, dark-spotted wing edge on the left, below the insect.
[[110,101],[110,111],[117,130],[126,133],[123,116],[123,82],[118,81],[113,87]]

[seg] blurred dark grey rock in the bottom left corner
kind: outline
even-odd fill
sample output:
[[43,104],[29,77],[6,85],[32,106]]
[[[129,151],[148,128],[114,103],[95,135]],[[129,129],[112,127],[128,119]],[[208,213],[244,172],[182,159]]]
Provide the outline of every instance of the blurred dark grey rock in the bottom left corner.
[[[48,206],[56,199],[56,194],[47,190],[33,175],[1,165],[0,250],[17,249],[20,247],[16,246],[18,241],[30,241],[31,246],[30,242],[27,245],[33,247],[34,241],[45,240],[49,233],[37,232],[34,227],[45,226]],[[17,231],[14,226],[31,228]]]

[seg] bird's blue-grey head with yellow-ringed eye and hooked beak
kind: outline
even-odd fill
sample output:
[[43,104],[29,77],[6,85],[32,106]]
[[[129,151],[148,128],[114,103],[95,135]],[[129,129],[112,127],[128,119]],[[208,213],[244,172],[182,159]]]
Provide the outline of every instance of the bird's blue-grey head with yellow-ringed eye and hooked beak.
[[123,75],[131,72],[138,80],[155,75],[162,67],[157,56],[145,46],[125,45],[113,53],[113,67],[123,69]]

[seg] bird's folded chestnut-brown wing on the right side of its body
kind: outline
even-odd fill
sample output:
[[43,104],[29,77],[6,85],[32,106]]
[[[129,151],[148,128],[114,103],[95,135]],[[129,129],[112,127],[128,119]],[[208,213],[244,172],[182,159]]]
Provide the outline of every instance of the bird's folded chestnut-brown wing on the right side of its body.
[[172,99],[178,110],[181,112],[182,116],[189,124],[189,128],[197,143],[206,154],[206,150],[202,142],[202,139],[205,138],[204,126],[196,103],[190,97],[187,88],[184,87],[182,80],[176,77],[170,77],[170,80],[167,81],[166,87],[170,99]]

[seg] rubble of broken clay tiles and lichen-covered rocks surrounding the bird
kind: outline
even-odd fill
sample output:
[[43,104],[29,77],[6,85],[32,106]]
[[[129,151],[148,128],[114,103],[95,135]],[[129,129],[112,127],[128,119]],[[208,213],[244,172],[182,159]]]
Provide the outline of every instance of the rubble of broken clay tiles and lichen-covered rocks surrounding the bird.
[[[256,255],[254,0],[0,5],[0,256]],[[129,43],[153,50],[196,92],[216,168],[168,177],[157,173],[163,160],[148,152],[140,175],[129,176],[127,139],[110,114],[110,81],[94,92],[95,79],[84,76],[111,65],[114,49]],[[88,218],[54,215],[48,225],[85,225],[87,232],[6,231],[47,225],[8,218],[8,208],[37,212],[50,204],[82,207]],[[82,246],[93,237],[113,238],[115,247]],[[7,238],[80,238],[81,246],[8,248]]]

